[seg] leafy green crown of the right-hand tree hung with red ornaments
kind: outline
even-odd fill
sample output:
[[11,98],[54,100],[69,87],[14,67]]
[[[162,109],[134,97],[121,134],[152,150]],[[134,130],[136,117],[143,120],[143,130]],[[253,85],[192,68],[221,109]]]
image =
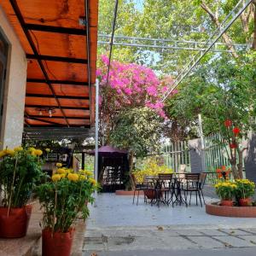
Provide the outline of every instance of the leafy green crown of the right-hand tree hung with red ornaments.
[[256,109],[255,56],[252,52],[236,62],[223,56],[199,67],[167,101],[169,118],[193,131],[201,113],[205,135],[219,132],[224,120],[231,119],[247,135]]

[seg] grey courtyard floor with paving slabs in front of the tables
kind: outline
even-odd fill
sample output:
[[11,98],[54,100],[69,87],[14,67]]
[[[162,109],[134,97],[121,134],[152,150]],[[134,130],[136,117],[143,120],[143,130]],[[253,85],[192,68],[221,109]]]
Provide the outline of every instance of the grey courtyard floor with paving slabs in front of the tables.
[[90,207],[84,256],[255,255],[255,246],[256,218],[211,216],[195,198],[188,208],[158,208],[143,197],[136,206],[131,196],[103,194]]

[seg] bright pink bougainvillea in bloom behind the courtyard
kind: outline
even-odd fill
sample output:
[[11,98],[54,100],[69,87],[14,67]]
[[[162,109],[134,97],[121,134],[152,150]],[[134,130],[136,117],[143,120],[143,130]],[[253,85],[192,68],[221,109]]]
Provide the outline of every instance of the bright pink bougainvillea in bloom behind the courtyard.
[[[165,118],[162,96],[172,79],[157,78],[154,71],[135,63],[112,61],[108,73],[108,57],[102,55],[97,77],[100,79],[102,108],[113,112],[120,108],[148,107]],[[173,93],[176,93],[175,90]]]

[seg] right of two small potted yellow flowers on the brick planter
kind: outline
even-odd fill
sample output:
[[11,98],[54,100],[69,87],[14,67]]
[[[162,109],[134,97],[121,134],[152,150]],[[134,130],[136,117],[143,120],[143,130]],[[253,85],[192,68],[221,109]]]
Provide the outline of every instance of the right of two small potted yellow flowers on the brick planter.
[[255,183],[251,182],[248,179],[236,179],[237,186],[237,199],[241,207],[252,206],[251,196],[255,192]]

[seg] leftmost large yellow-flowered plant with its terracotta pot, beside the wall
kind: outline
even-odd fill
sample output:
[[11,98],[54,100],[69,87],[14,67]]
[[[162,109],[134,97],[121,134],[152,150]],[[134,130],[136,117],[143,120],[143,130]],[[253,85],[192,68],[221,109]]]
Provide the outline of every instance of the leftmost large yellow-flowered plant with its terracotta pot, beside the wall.
[[0,152],[0,237],[26,236],[32,206],[32,189],[43,176],[42,150],[21,147]]

